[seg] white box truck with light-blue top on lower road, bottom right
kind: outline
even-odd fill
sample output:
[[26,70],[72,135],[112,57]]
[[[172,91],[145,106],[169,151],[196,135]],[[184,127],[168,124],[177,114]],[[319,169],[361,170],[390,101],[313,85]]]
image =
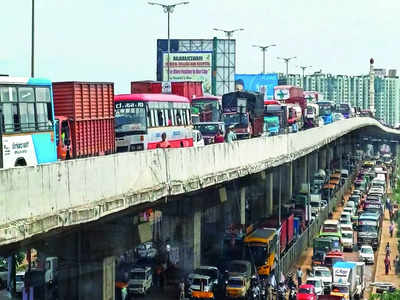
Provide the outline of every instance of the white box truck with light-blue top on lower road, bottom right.
[[357,293],[357,265],[352,262],[337,262],[333,265],[331,295],[346,300],[354,299]]

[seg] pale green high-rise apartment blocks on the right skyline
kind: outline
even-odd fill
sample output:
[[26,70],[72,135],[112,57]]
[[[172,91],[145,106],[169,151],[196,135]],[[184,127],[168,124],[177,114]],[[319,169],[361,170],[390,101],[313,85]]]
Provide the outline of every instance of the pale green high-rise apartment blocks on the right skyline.
[[[318,91],[324,99],[335,103],[349,103],[353,107],[369,109],[369,75],[331,75],[316,72],[311,75],[279,74],[279,84],[302,87],[305,91]],[[375,117],[384,123],[397,126],[400,122],[400,79],[396,70],[374,68]]]

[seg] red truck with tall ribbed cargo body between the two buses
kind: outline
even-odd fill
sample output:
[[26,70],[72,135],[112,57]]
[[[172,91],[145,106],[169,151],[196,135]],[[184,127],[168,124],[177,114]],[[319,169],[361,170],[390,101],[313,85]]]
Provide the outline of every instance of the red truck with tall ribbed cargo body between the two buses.
[[113,83],[54,82],[53,99],[59,159],[115,152]]

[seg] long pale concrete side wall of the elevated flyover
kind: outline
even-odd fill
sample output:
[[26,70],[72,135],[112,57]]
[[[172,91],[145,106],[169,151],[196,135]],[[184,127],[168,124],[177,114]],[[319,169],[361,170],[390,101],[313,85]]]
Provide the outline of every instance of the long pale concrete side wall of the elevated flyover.
[[0,170],[0,245],[258,173],[359,130],[395,140],[400,137],[400,131],[374,119],[353,118],[296,134],[232,144]]

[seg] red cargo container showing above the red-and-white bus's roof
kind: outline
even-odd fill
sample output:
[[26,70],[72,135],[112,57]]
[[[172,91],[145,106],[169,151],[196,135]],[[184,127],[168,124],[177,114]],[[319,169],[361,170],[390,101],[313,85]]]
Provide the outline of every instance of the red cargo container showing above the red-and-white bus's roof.
[[131,94],[174,94],[188,98],[203,96],[201,81],[132,81]]

